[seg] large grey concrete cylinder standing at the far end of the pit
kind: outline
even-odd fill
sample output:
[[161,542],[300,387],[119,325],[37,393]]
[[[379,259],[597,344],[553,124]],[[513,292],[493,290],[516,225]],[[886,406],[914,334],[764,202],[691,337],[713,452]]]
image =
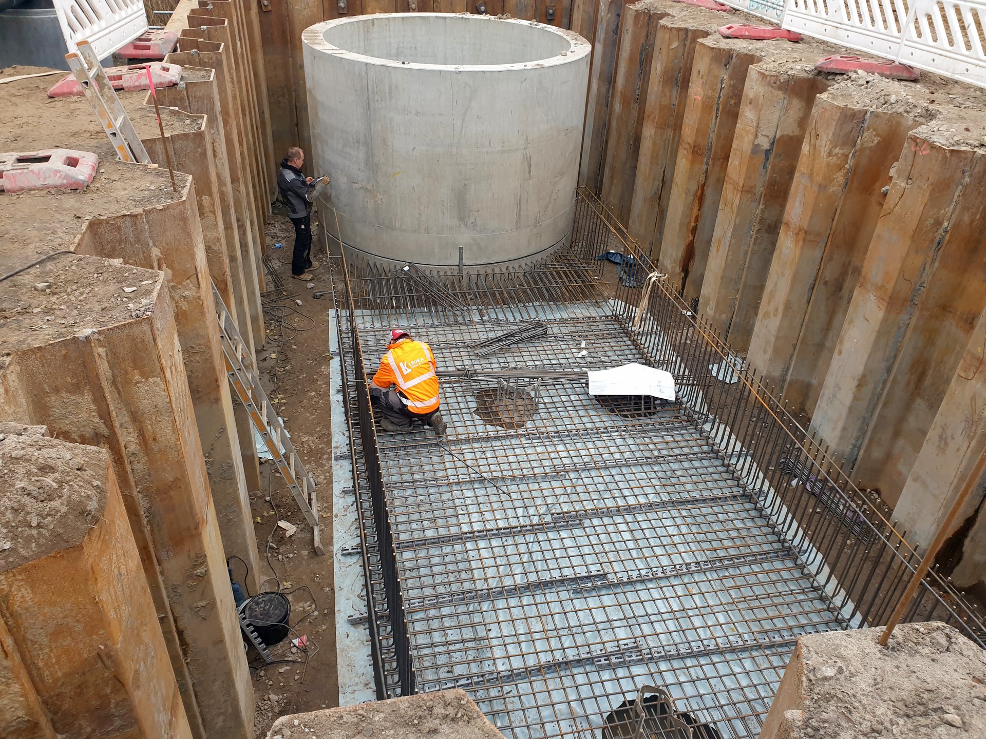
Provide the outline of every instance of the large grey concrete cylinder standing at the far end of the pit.
[[[313,167],[347,255],[521,266],[572,230],[590,45],[528,21],[393,13],[305,31]],[[323,214],[336,236],[333,215]]]

